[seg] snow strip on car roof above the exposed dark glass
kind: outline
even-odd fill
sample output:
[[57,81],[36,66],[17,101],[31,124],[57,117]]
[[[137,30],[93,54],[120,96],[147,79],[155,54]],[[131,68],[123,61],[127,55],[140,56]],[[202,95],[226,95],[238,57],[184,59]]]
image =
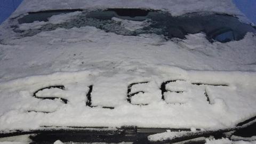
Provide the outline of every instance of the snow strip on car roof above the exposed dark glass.
[[108,9],[108,8],[142,8],[152,10],[163,10],[170,12],[172,15],[182,15],[192,12],[217,12],[230,15],[242,15],[231,0],[25,0],[15,11],[15,14],[36,12],[44,10],[59,9]]

